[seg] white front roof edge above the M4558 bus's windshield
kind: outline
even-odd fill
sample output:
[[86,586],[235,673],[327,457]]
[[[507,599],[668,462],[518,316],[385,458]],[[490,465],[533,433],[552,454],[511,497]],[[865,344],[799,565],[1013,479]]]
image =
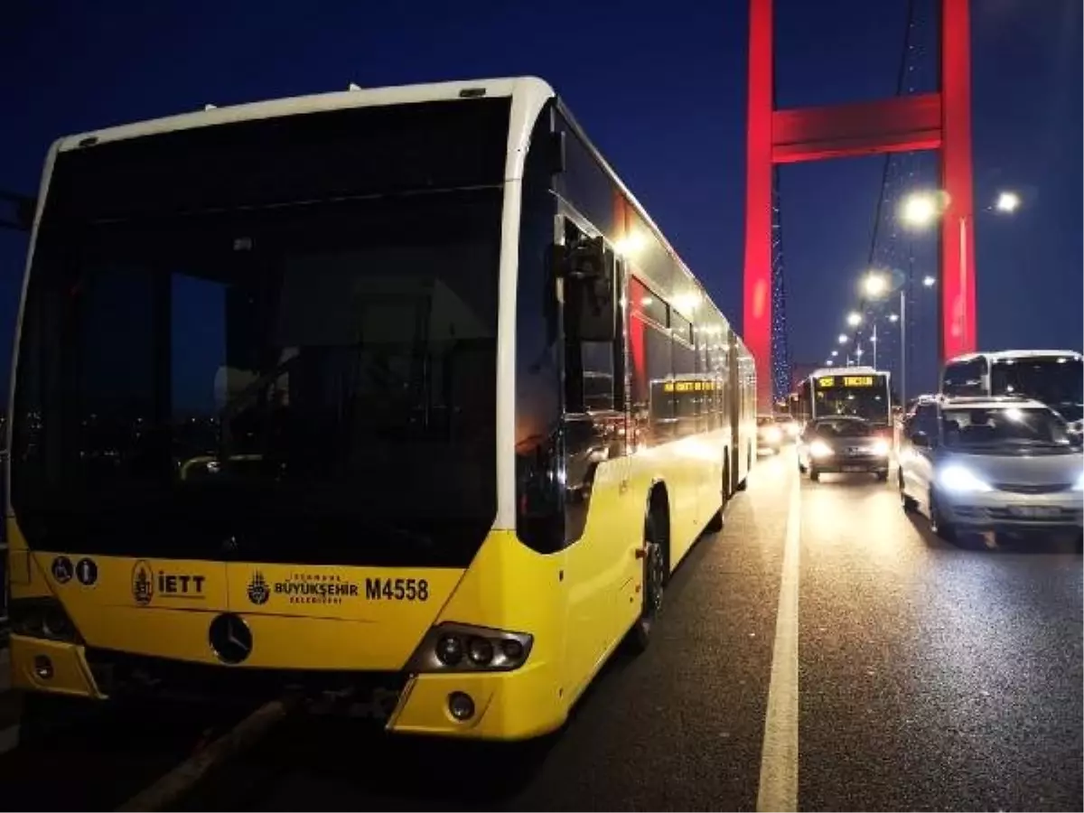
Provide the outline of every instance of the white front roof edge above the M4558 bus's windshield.
[[524,77],[515,79],[479,79],[474,81],[433,82],[429,85],[404,85],[391,88],[344,90],[333,93],[314,93],[306,96],[274,99],[267,102],[250,102],[176,116],[136,121],[107,127],[102,130],[68,136],[60,140],[61,151],[75,150],[87,139],[96,143],[132,139],[172,130],[188,130],[195,127],[247,121],[259,118],[275,118],[300,113],[345,109],[348,107],[375,107],[388,104],[410,104],[460,99],[467,90],[485,89],[487,96],[509,96],[516,90],[531,90],[545,98],[554,95],[553,88],[542,79]]

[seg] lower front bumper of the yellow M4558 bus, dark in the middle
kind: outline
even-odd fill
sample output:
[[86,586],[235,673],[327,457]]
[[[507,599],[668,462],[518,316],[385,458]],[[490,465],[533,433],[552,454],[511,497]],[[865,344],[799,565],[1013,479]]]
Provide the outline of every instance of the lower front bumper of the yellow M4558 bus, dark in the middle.
[[313,711],[366,718],[388,732],[518,740],[547,734],[567,717],[552,669],[406,675],[307,673],[192,663],[77,644],[11,636],[12,686],[88,700],[251,704],[301,691]]

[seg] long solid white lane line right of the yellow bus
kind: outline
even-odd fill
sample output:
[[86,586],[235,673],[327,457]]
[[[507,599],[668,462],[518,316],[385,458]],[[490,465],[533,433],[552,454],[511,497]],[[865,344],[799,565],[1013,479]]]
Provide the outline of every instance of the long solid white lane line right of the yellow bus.
[[779,605],[767,685],[764,745],[760,754],[758,813],[798,810],[798,580],[801,542],[801,481],[791,480],[783,549]]

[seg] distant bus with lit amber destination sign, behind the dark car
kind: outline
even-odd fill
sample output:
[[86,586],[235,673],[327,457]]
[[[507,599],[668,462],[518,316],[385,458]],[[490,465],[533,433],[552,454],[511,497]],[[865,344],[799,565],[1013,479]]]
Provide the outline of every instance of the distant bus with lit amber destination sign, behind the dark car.
[[857,366],[816,370],[798,387],[796,413],[802,423],[833,415],[854,415],[890,430],[889,374]]

